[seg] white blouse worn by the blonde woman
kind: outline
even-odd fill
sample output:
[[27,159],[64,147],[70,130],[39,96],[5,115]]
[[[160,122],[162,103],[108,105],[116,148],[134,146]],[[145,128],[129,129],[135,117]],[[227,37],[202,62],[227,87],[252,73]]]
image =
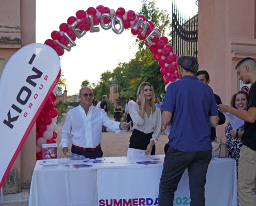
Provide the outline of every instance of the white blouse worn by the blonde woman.
[[160,129],[161,129],[161,111],[158,107],[156,107],[156,110],[154,113],[152,113],[147,117],[147,114],[145,112],[144,119],[140,117],[139,115],[140,109],[139,105],[134,104],[130,107],[130,116],[133,123],[132,129],[137,129],[144,133],[150,133],[153,132],[152,138],[159,139],[160,136]]

